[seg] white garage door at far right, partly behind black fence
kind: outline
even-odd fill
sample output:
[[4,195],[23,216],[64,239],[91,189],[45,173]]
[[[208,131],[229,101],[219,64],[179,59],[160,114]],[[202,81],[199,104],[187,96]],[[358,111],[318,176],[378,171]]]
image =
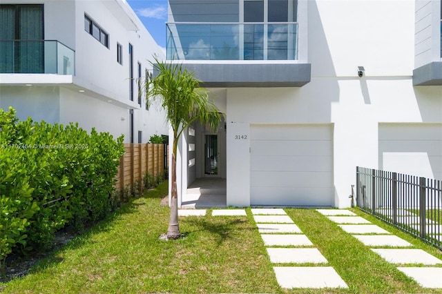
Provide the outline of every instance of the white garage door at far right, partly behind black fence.
[[442,124],[379,124],[381,170],[442,179]]

